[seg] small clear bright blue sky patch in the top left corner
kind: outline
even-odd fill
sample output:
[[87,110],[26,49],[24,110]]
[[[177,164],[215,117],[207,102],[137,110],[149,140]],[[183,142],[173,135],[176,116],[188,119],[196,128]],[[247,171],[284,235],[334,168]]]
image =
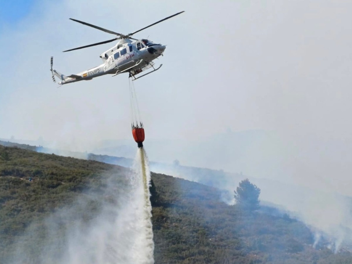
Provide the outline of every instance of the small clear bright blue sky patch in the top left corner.
[[11,0],[0,3],[0,24],[17,23],[25,18],[38,0]]

